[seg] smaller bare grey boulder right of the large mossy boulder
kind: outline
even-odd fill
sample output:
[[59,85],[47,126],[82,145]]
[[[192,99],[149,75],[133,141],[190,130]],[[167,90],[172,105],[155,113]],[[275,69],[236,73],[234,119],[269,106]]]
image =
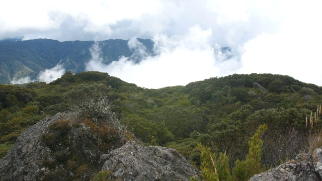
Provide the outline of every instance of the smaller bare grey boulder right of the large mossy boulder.
[[102,155],[102,159],[107,160],[102,170],[112,171],[116,180],[189,180],[200,174],[177,150],[145,147],[134,141]]

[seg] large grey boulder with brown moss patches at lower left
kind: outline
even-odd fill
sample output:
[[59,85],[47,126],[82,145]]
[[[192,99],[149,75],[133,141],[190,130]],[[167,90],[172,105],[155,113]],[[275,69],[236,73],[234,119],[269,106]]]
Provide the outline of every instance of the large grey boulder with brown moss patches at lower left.
[[114,128],[58,113],[17,139],[0,160],[0,180],[89,180],[104,164],[100,156],[125,142]]

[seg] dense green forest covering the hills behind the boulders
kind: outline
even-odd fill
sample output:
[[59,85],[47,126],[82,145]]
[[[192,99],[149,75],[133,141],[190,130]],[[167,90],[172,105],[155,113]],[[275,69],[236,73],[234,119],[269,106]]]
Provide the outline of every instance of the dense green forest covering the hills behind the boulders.
[[175,148],[197,167],[201,143],[216,155],[225,153],[232,168],[249,154],[250,138],[264,124],[261,165],[293,159],[308,151],[307,119],[322,104],[321,86],[286,75],[233,74],[148,89],[108,73],[68,71],[48,84],[0,85],[0,156],[46,116],[82,110],[72,97],[95,99],[97,94],[138,141]]

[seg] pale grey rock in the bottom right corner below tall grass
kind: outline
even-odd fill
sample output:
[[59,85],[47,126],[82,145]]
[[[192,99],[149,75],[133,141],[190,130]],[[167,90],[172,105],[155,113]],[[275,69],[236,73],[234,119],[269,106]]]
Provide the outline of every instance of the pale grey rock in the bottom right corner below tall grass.
[[322,180],[322,147],[314,150],[312,155],[289,161],[267,172],[254,175],[251,181],[275,180]]

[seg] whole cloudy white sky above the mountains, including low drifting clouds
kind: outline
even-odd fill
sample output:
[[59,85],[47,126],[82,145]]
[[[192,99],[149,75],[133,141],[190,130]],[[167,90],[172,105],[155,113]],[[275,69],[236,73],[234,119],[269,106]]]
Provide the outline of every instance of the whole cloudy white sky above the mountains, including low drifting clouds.
[[[95,43],[86,69],[147,88],[233,73],[289,75],[322,86],[321,5],[315,0],[0,0],[0,39],[129,40],[140,63],[120,57],[106,65]],[[136,38],[151,39],[157,55],[146,53]],[[227,46],[230,52],[221,51]],[[64,71],[57,64],[38,80],[50,82]]]

